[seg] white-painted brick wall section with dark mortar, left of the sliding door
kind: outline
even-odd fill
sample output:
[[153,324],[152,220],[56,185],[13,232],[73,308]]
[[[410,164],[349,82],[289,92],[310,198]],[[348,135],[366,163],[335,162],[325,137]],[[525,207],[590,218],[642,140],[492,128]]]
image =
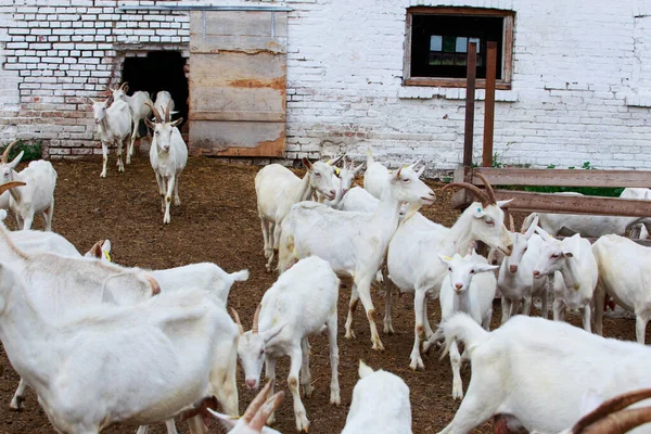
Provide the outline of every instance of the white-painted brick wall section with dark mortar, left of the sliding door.
[[[99,154],[88,98],[120,81],[125,56],[187,51],[186,13],[128,14],[153,1],[1,0],[0,131],[50,157]],[[186,54],[187,55],[187,54]]]

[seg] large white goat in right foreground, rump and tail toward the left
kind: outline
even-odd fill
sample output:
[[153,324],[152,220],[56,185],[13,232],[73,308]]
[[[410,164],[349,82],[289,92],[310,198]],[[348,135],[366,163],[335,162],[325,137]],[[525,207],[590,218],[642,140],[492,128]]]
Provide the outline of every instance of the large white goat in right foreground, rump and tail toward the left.
[[651,386],[651,349],[586,333],[565,322],[515,316],[487,332],[465,314],[441,324],[447,353],[463,343],[472,376],[455,419],[441,434],[464,434],[494,414],[509,414],[528,432],[557,433],[582,414],[586,387],[608,399]]

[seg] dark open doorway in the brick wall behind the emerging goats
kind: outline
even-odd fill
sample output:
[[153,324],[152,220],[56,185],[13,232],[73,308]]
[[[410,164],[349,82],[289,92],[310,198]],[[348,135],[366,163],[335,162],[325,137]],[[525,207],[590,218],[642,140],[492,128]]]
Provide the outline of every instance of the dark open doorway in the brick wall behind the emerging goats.
[[150,51],[146,58],[126,58],[123,81],[129,82],[129,94],[137,90],[150,92],[152,101],[159,90],[167,90],[174,100],[173,118],[183,118],[179,129],[188,120],[188,79],[183,67],[186,59],[178,51]]

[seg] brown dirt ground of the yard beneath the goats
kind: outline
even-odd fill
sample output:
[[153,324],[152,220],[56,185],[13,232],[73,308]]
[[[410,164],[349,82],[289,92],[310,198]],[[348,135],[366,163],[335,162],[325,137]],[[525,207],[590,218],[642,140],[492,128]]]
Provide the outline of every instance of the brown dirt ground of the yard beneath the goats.
[[[86,252],[95,241],[108,238],[113,243],[113,259],[128,266],[161,269],[207,260],[229,272],[248,268],[250,280],[233,285],[229,305],[238,309],[245,328],[251,327],[255,307],[276,279],[276,275],[267,273],[264,268],[263,238],[254,190],[254,177],[259,167],[226,165],[219,159],[191,157],[179,188],[182,204],[178,208],[173,207],[171,225],[167,226],[163,226],[154,174],[144,155],[138,155],[127,166],[126,173],[118,174],[115,154],[112,154],[106,179],[99,178],[100,158],[55,162],[54,167],[59,173],[54,231],[66,237],[80,252]],[[449,206],[449,191],[442,193],[442,184],[432,183],[432,187],[438,201],[422,209],[423,214],[444,225],[452,225],[458,212]],[[37,219],[35,229],[41,228],[42,222]],[[397,334],[382,335],[386,350],[375,353],[371,349],[368,322],[361,307],[358,307],[355,318],[357,339],[344,339],[343,324],[349,296],[350,285],[346,283],[341,290],[339,304],[340,407],[328,403],[330,368],[327,339],[319,335],[310,340],[316,390],[311,398],[304,399],[311,422],[310,433],[332,434],[343,429],[360,359],[374,369],[391,371],[407,382],[411,391],[413,433],[438,432],[452,419],[459,403],[451,398],[451,371],[447,358],[439,360],[438,355],[432,353],[424,357],[424,371],[413,372],[409,369],[413,342],[412,297],[394,297],[394,328]],[[384,299],[378,289],[373,292],[373,302],[378,311],[383,312]],[[438,303],[430,302],[430,312],[433,314],[430,321],[436,324],[439,320]],[[498,310],[496,304],[494,328],[498,326]],[[571,317],[573,323],[577,324],[577,320],[576,316]],[[608,336],[634,340],[635,322],[604,319],[604,331]],[[22,412],[9,410],[18,376],[10,367],[3,350],[0,363],[5,367],[0,379],[0,432],[54,432],[31,391]],[[286,358],[279,361],[278,388],[286,390],[284,379],[288,365]],[[468,367],[462,371],[462,376],[465,390],[470,380]],[[243,382],[240,370],[240,411],[246,408],[253,397],[245,392]],[[275,427],[283,433],[293,433],[292,400],[286,392],[285,400],[277,412],[278,423]],[[184,424],[178,424],[178,429],[179,432],[187,432]],[[132,426],[106,430],[108,433],[135,431]],[[486,423],[476,431],[487,433],[490,425]],[[165,433],[165,427],[158,424],[150,432]],[[210,432],[220,433],[224,430],[214,422]]]

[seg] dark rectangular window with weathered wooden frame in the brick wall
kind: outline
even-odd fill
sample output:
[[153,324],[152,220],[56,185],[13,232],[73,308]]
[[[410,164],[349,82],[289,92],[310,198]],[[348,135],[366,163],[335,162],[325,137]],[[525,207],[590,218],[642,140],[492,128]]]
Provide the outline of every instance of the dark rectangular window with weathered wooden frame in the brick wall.
[[474,8],[409,8],[406,86],[465,87],[468,43],[477,43],[477,88],[486,86],[486,44],[497,42],[498,89],[511,88],[512,11]]

